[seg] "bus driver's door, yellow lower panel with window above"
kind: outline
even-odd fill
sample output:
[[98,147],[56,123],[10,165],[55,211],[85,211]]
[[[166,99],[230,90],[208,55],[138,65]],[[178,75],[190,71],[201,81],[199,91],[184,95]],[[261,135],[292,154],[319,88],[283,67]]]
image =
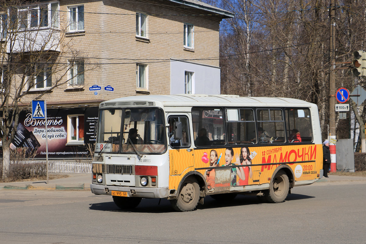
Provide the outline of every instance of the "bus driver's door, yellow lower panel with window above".
[[[182,138],[175,138],[175,125],[182,126]],[[169,136],[169,172],[170,175],[180,175],[189,167],[194,166],[193,143],[191,143],[189,115],[186,113],[168,114],[167,134]]]

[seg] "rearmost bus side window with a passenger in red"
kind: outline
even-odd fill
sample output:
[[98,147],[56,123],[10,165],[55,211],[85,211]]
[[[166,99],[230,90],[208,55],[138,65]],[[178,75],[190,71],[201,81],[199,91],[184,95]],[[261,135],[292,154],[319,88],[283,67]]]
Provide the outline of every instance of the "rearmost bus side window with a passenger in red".
[[305,108],[286,108],[286,133],[290,143],[312,142],[310,110]]

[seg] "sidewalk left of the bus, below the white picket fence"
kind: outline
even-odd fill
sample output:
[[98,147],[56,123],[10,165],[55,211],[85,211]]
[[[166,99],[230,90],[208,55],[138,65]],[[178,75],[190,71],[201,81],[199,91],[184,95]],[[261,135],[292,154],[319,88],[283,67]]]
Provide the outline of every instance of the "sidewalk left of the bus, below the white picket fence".
[[37,181],[18,181],[0,183],[0,190],[33,189],[33,190],[85,190],[90,191],[91,173],[69,173],[69,177]]

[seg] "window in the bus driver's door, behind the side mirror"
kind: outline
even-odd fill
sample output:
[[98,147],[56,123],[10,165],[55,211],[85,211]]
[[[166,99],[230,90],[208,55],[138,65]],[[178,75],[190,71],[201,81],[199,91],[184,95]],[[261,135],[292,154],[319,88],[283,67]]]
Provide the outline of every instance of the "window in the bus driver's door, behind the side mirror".
[[[190,136],[189,136],[189,127],[188,127],[188,118],[185,116],[174,116],[169,117],[169,143],[172,148],[187,148],[191,146]],[[182,139],[174,138],[174,123],[181,122],[182,123]]]

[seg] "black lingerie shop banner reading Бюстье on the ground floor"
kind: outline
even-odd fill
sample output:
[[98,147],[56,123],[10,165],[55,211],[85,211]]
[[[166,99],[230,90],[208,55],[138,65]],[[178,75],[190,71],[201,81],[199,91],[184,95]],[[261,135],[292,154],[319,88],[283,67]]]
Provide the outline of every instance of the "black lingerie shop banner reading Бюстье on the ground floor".
[[[80,141],[70,143],[68,115],[78,115],[79,126],[75,129]],[[44,119],[32,119],[30,111],[20,113],[19,125],[11,147],[29,147],[37,150],[36,158],[46,157],[46,131]],[[98,108],[47,109],[47,136],[49,158],[85,158],[89,151],[85,144],[95,143],[95,126]],[[68,125],[68,123],[70,123]],[[82,124],[81,124],[82,123]],[[71,133],[71,131],[69,131]],[[75,133],[75,132],[74,132]],[[83,139],[83,140],[82,140]],[[90,156],[89,156],[90,157]]]

